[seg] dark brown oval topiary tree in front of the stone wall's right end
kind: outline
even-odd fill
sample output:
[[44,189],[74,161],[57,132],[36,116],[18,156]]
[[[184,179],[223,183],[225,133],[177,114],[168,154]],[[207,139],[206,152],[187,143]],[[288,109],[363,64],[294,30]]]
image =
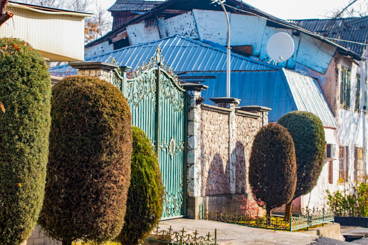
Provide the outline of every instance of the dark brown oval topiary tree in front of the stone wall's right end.
[[280,124],[263,127],[254,137],[249,160],[249,184],[256,200],[271,209],[289,203],[297,181],[293,139]]

